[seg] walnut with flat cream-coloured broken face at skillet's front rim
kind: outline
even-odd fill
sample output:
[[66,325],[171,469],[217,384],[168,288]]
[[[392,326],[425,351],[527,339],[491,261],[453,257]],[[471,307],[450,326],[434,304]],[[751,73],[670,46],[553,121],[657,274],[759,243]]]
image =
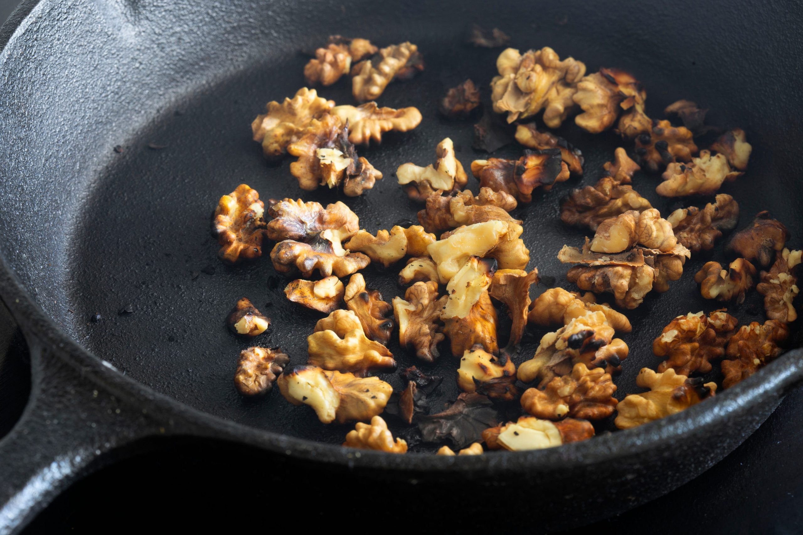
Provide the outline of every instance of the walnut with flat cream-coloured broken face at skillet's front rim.
[[542,450],[593,437],[594,427],[587,420],[568,418],[560,422],[521,416],[516,423],[490,427],[483,431],[488,449],[508,451]]

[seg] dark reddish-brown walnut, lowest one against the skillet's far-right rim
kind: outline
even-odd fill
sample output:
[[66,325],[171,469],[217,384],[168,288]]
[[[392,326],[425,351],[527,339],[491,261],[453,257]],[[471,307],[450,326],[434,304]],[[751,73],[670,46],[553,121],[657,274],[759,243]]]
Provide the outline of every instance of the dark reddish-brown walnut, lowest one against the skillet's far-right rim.
[[789,327],[778,320],[753,321],[742,325],[728,341],[726,359],[722,361],[723,388],[730,388],[756,373],[761,366],[782,353],[778,345],[789,336]]

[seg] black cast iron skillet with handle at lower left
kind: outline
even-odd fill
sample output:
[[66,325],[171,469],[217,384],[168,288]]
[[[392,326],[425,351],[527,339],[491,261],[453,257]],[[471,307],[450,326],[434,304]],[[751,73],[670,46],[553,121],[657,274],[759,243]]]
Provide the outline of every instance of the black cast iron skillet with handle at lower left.
[[[436,112],[436,98],[469,76],[487,96],[500,49],[463,44],[467,26],[480,22],[512,35],[514,47],[548,45],[585,61],[589,71],[633,71],[646,84],[651,116],[690,98],[711,108],[711,124],[745,129],[754,146],[750,169],[723,191],[740,202],[741,226],[758,210],[772,210],[792,231],[790,245],[801,247],[801,106],[794,92],[801,74],[792,67],[803,51],[801,8],[781,3],[725,11],[714,2],[26,2],[0,35],[0,295],[30,345],[33,385],[22,418],[0,440],[0,533],[19,529],[77,477],[161,435],[246,443],[261,448],[276,470],[312,464],[322,481],[364,478],[373,488],[382,481],[399,495],[442,484],[471,500],[506,504],[512,521],[532,518],[538,504],[545,527],[618,513],[699,475],[803,378],[799,349],[680,415],[613,434],[603,423],[600,436],[584,443],[467,458],[444,459],[428,446],[422,454],[358,454],[336,445],[349,426],[324,427],[278,392],[259,402],[235,392],[236,357],[248,342],[227,333],[222,318],[238,297],[273,318],[263,341],[281,345],[293,363],[304,361],[305,337],[320,316],[284,300],[284,280],[267,255],[243,267],[219,263],[210,214],[241,182],[266,199],[302,195],[289,159],[267,165],[248,125],[267,100],[304,84],[300,50],[340,33],[382,46],[409,39],[425,55],[422,75],[390,85],[379,100],[417,106],[422,125],[365,150],[385,180],[344,199],[370,231],[413,219],[418,206],[395,184],[397,165],[432,161],[446,136],[464,165],[484,156],[471,149],[472,120],[449,122]],[[346,81],[321,93],[353,102]],[[582,234],[560,224],[558,199],[595,182],[620,141],[585,134],[572,120],[558,133],[583,150],[584,177],[536,196],[516,216],[525,219],[531,266],[569,288],[554,256],[564,243],[581,243]],[[518,153],[508,146],[495,156]],[[690,203],[657,198],[658,180],[641,175],[635,183],[662,212]],[[619,394],[637,391],[635,374],[658,363],[650,342],[672,317],[717,307],[699,297],[691,276],[711,258],[726,259],[721,250],[696,255],[670,292],[650,294],[629,312],[634,332],[626,337],[630,357]],[[365,276],[389,299],[402,292],[395,272],[369,267]],[[128,304],[134,312],[119,316]],[[96,312],[103,320],[92,323]],[[763,321],[755,292],[731,312],[743,323]],[[541,334],[532,332],[517,363],[532,356]],[[799,345],[793,333],[790,347]],[[403,365],[421,366],[391,349]],[[422,367],[450,375],[456,366],[442,357]],[[394,374],[383,377],[401,386]],[[456,394],[445,388],[438,401]]]

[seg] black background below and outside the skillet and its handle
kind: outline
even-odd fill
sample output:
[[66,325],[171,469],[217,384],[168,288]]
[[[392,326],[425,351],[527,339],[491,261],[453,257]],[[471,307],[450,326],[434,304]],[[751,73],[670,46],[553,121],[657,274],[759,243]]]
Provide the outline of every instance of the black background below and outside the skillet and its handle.
[[[14,4],[0,0],[0,21]],[[24,342],[0,306],[0,436],[22,409],[27,381]],[[755,435],[697,480],[582,531],[803,533],[801,402],[803,390],[790,394]],[[299,474],[295,482],[271,480],[269,470],[254,469],[260,459],[259,452],[223,443],[162,444],[75,484],[26,533],[208,531],[215,521],[226,522],[232,531],[271,529],[287,522],[304,531],[316,525],[391,533],[396,525],[422,533],[493,527],[540,531],[537,504],[532,524],[512,527],[504,523],[503,504],[463,503],[461,509],[449,496],[422,500],[432,489],[422,489],[421,496],[385,491],[385,503],[402,506],[389,513],[365,489],[316,485],[314,473]]]

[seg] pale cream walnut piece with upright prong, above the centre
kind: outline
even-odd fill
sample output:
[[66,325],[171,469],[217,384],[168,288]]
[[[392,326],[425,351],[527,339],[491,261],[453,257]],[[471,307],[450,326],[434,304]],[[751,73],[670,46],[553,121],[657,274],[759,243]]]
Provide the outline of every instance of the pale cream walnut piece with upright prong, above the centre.
[[434,164],[420,167],[413,163],[398,166],[396,177],[399,184],[408,185],[405,190],[407,196],[416,201],[426,201],[434,192],[456,191],[463,189],[468,182],[468,176],[463,164],[454,155],[454,143],[446,137],[438,143],[435,149],[438,159]]

